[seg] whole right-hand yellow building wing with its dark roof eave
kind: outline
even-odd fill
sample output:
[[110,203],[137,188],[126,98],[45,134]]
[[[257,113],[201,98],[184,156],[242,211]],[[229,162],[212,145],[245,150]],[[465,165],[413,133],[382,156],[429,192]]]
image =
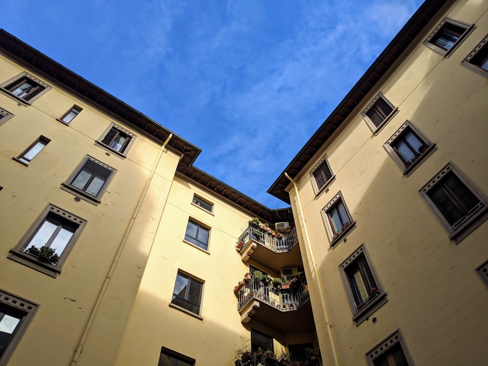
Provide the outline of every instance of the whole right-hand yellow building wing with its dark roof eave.
[[426,1],[269,190],[326,365],[488,364],[487,10]]

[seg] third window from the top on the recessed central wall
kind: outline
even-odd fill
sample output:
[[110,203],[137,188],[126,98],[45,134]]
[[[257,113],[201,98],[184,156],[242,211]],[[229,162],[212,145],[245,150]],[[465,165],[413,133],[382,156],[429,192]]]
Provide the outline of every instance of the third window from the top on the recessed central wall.
[[181,271],[176,276],[175,289],[171,304],[193,314],[200,315],[203,282],[200,282]]

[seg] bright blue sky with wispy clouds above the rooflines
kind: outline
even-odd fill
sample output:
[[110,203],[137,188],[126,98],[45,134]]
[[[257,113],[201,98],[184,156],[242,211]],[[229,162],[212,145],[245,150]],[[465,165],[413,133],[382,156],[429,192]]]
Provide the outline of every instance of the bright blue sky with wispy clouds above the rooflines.
[[266,193],[421,0],[4,0],[0,27]]

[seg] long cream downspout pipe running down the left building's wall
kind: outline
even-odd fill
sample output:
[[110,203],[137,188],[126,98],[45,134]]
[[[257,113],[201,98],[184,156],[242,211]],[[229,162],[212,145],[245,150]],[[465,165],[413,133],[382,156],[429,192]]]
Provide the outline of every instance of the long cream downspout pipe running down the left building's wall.
[[95,315],[97,315],[98,309],[100,308],[100,305],[102,304],[102,299],[103,299],[103,296],[105,295],[105,291],[107,290],[108,283],[110,282],[110,279],[112,278],[115,267],[117,266],[119,258],[122,255],[122,251],[125,247],[125,243],[127,242],[127,238],[129,237],[129,234],[132,230],[132,226],[134,225],[134,222],[136,221],[137,215],[138,215],[139,210],[142,206],[142,202],[144,201],[144,197],[147,194],[147,190],[149,189],[149,185],[151,184],[152,178],[154,177],[154,173],[156,172],[156,168],[158,167],[159,162],[161,161],[161,157],[163,156],[164,148],[166,147],[166,144],[169,142],[169,140],[171,140],[172,137],[173,137],[173,134],[170,133],[168,138],[166,139],[166,141],[161,146],[161,150],[159,152],[158,158],[156,159],[156,162],[154,163],[154,166],[151,170],[151,173],[149,174],[149,178],[147,179],[144,190],[142,191],[141,198],[139,199],[139,202],[137,203],[136,209],[134,210],[134,213],[132,214],[132,218],[130,219],[129,225],[127,226],[127,229],[125,230],[125,234],[122,238],[121,244],[119,245],[119,250],[117,251],[117,254],[115,255],[114,261],[112,262],[112,265],[110,266],[107,277],[105,278],[105,281],[103,282],[102,289],[100,290],[100,293],[98,294],[98,298],[97,298],[97,301],[95,303],[95,306],[93,306],[90,317],[88,318],[88,322],[85,325],[85,328],[83,330],[83,334],[81,335],[81,338],[80,338],[80,343],[78,344],[78,346],[75,349],[75,355],[74,355],[73,360],[71,361],[71,364],[70,364],[71,366],[76,366],[78,363],[78,359],[80,358],[81,352],[83,351],[83,346],[85,344],[86,338],[88,337],[88,333],[90,331],[90,328],[93,325]]

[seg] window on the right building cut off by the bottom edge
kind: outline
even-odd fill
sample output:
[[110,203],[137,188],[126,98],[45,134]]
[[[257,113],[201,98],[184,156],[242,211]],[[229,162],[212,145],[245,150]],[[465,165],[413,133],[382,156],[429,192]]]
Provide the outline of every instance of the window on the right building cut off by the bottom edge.
[[413,365],[399,329],[368,351],[366,360],[369,366]]

